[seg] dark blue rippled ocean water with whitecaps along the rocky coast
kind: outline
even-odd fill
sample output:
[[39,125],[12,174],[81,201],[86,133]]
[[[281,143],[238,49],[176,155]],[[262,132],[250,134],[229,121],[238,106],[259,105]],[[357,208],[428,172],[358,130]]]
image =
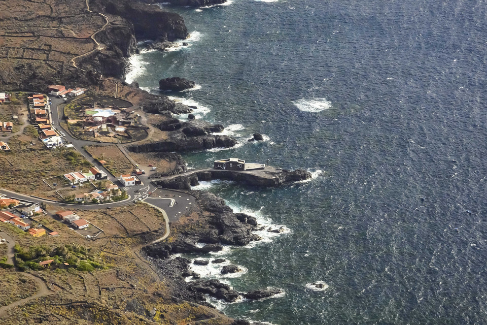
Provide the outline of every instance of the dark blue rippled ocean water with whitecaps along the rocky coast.
[[[161,78],[194,80],[170,95],[239,140],[186,154],[189,167],[235,156],[316,176],[200,185],[287,229],[218,255],[245,268],[223,279],[235,289],[285,294],[219,308],[281,325],[487,323],[485,1],[166,8],[189,46],[134,57],[129,79],[155,92]],[[248,143],[254,132],[266,141]]]

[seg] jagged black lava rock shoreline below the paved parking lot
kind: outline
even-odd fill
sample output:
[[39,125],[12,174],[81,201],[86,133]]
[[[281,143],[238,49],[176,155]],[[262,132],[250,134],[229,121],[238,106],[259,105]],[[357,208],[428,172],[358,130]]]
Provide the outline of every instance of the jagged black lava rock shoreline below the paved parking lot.
[[[241,293],[233,290],[229,285],[216,279],[201,279],[200,275],[190,270],[191,262],[184,257],[173,257],[175,254],[205,255],[210,252],[221,251],[223,245],[245,246],[252,241],[262,238],[253,232],[261,230],[257,219],[244,213],[234,213],[225,201],[210,192],[191,191],[197,198],[197,203],[204,216],[204,225],[198,229],[184,229],[171,242],[161,242],[144,248],[148,258],[164,274],[171,274],[180,281],[184,299],[196,299],[205,304],[205,295],[227,303],[239,299],[261,300],[283,294],[279,288],[261,288]],[[269,229],[269,232],[279,232],[279,229]],[[204,244],[204,245],[201,245]],[[194,265],[220,265],[225,259],[217,258],[211,262],[205,259],[195,259]],[[241,272],[235,265],[224,265],[221,274]],[[189,282],[186,282],[190,280]],[[184,282],[184,283],[183,283]]]

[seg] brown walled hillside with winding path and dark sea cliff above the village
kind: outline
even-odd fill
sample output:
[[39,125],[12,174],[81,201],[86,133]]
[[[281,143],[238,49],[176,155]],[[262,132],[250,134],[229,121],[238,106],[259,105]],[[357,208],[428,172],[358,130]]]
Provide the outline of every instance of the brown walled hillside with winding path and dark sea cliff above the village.
[[0,87],[43,90],[122,78],[135,36],[167,41],[187,31],[179,15],[137,1],[0,1]]

